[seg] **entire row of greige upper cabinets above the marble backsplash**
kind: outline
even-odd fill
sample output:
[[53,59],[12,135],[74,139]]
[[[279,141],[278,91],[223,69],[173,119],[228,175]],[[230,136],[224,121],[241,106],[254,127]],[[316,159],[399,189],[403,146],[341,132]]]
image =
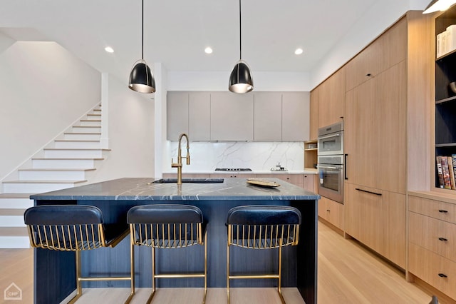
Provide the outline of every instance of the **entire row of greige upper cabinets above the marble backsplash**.
[[169,91],[167,140],[307,141],[309,92]]

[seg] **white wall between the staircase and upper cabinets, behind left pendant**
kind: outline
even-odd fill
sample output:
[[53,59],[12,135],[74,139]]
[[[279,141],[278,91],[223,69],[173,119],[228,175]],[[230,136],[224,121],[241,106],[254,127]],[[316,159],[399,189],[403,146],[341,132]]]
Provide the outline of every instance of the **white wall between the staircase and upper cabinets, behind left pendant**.
[[150,94],[130,90],[126,80],[119,81],[109,76],[108,86],[111,151],[90,182],[152,177],[155,170],[154,101],[150,99]]

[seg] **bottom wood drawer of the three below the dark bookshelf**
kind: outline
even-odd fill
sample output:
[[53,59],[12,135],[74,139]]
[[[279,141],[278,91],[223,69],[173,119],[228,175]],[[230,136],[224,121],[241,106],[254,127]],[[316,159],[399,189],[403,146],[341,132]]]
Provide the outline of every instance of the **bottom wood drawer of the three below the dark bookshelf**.
[[408,271],[456,300],[456,263],[410,243]]

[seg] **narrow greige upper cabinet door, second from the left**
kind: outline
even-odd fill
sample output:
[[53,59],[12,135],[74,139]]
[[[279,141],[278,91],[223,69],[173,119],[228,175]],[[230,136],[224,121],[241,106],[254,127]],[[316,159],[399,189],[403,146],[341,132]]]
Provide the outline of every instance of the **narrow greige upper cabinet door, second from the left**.
[[188,103],[190,141],[210,141],[211,94],[209,92],[190,92]]

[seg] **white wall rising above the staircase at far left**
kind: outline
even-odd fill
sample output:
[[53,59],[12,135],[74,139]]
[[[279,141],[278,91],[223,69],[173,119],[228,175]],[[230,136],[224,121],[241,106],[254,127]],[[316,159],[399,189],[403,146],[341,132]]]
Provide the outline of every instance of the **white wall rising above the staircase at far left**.
[[0,54],[0,180],[100,102],[100,73],[54,42]]

